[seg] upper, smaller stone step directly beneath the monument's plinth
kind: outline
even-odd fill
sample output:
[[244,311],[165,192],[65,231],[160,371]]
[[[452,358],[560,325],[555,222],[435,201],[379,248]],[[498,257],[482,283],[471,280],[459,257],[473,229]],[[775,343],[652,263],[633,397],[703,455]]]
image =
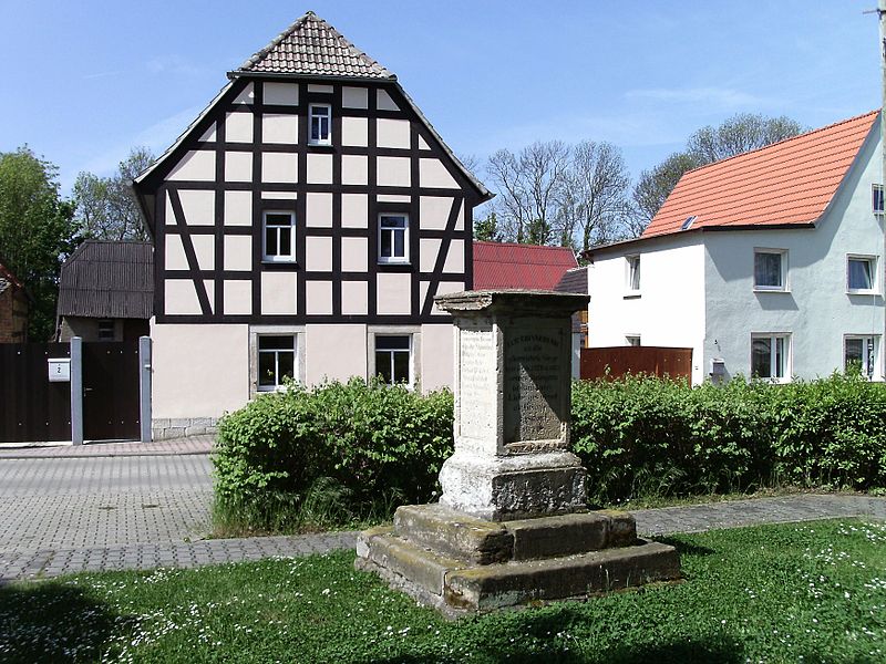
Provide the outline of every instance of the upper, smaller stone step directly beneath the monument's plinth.
[[398,508],[394,532],[419,547],[476,564],[571,556],[630,546],[637,539],[637,526],[627,512],[578,512],[497,522],[439,504]]

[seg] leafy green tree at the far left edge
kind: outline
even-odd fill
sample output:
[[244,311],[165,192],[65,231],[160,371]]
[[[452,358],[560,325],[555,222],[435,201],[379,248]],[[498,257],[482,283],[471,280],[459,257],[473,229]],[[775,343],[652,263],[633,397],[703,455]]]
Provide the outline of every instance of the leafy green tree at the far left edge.
[[0,153],[0,261],[32,298],[28,334],[55,330],[59,271],[79,242],[73,205],[59,195],[59,169],[28,146]]

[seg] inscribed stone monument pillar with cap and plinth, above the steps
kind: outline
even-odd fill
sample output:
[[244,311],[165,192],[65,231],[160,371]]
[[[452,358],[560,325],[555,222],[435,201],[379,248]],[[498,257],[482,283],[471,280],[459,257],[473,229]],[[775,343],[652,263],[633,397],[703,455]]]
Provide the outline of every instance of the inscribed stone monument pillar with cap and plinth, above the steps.
[[568,452],[571,314],[588,297],[473,291],[437,298],[455,323],[455,454],[443,505],[494,521],[585,509]]

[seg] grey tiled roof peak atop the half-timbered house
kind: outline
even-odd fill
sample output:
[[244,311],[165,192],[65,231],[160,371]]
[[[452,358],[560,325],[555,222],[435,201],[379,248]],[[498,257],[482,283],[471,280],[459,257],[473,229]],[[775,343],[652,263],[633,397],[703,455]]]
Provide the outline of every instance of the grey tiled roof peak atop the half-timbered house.
[[396,79],[312,11],[299,17],[231,75],[246,73]]

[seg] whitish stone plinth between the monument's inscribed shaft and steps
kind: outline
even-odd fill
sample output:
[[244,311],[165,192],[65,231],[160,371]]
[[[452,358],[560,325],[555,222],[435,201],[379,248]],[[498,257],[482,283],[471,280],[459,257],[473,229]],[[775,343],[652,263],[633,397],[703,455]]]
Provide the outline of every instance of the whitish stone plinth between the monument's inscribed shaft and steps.
[[440,470],[440,502],[491,521],[583,511],[586,476],[581,460],[563,449],[511,456],[456,450]]

